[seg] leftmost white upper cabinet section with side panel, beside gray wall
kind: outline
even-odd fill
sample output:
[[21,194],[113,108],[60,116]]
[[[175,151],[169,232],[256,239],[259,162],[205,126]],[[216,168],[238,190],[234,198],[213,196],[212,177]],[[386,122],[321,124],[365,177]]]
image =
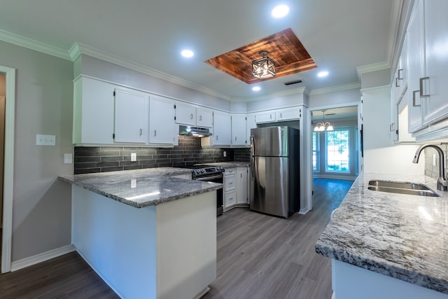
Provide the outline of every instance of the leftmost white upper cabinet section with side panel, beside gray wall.
[[73,83],[73,144],[113,144],[114,89],[85,77]]

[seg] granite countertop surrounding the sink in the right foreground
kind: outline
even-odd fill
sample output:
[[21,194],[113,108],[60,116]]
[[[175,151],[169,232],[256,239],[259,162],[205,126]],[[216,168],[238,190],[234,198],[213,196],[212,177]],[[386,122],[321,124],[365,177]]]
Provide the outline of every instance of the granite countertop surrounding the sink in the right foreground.
[[[368,190],[368,181],[423,183],[441,197]],[[428,176],[360,174],[316,242],[316,252],[448,294],[448,191]]]

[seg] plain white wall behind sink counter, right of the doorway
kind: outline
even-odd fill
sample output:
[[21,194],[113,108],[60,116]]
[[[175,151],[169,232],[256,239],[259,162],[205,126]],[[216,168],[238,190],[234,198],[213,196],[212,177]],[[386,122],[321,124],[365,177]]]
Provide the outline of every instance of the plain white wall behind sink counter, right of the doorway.
[[391,141],[390,95],[390,87],[363,90],[364,172],[424,174],[423,163],[412,163],[419,146]]

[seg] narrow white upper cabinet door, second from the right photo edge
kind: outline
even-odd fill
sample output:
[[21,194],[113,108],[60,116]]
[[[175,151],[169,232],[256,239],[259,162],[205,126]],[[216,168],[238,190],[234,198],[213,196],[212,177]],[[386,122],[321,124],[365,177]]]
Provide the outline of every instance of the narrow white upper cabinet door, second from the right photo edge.
[[408,112],[409,112],[409,132],[416,132],[422,126],[421,101],[420,99],[420,78],[424,77],[424,36],[423,36],[423,1],[416,0],[414,11],[409,20],[407,29],[407,90],[408,90]]

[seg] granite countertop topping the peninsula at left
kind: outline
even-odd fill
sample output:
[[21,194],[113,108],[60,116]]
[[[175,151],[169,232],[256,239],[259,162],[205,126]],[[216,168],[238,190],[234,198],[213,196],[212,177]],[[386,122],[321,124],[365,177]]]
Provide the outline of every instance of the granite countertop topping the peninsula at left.
[[223,188],[221,183],[170,177],[192,171],[186,168],[158,167],[121,172],[75,174],[59,176],[59,179],[137,208]]

